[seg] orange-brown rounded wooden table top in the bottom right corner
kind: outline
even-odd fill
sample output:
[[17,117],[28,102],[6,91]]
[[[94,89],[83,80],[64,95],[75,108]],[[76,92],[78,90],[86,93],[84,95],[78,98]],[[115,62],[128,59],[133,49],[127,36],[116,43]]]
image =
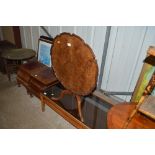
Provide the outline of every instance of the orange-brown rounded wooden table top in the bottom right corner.
[[[131,112],[135,108],[135,103],[123,103],[113,106],[107,117],[108,128],[110,129],[121,129],[124,123],[127,121]],[[155,121],[148,118],[147,116],[138,112],[131,122],[129,123],[128,129],[155,129]]]

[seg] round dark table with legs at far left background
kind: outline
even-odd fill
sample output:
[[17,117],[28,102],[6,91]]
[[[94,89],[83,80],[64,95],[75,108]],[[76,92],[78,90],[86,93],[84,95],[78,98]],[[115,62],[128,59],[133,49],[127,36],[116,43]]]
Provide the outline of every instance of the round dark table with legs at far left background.
[[11,81],[11,73],[17,72],[18,67],[23,61],[28,61],[35,57],[36,52],[32,49],[8,49],[2,52],[1,57],[5,62],[5,69],[8,75],[9,81]]

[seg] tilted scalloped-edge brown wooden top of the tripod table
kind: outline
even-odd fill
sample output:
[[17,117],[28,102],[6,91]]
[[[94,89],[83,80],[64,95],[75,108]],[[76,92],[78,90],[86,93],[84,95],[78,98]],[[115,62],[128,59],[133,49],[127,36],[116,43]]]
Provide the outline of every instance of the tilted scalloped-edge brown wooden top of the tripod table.
[[96,86],[98,66],[92,49],[77,35],[58,35],[51,48],[52,66],[62,85],[76,95]]

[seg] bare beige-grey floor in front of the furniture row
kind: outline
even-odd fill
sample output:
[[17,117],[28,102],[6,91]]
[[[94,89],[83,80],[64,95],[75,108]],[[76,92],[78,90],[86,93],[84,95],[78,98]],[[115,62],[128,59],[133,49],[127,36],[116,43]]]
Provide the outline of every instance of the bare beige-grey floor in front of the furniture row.
[[51,108],[41,111],[40,100],[30,98],[23,86],[18,87],[15,75],[9,82],[0,73],[0,128],[1,129],[74,129]]

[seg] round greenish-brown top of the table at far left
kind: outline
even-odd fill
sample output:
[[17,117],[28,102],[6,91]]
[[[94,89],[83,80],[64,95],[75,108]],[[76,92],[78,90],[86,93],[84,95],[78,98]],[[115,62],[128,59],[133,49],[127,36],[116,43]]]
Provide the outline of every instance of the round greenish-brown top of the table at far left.
[[27,60],[33,58],[36,52],[32,49],[9,49],[2,52],[1,57],[9,60]]

